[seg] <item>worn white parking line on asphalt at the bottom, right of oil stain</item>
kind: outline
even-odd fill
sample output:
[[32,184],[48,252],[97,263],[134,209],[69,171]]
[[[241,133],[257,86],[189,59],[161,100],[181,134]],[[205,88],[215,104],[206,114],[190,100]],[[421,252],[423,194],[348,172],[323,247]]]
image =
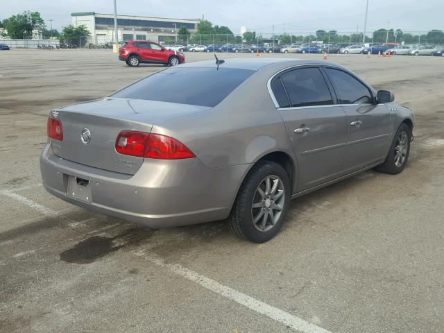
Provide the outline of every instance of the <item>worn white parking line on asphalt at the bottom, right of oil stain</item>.
[[139,250],[135,253],[135,255],[138,257],[144,257],[144,259],[148,260],[148,262],[152,262],[157,266],[167,268],[172,273],[180,275],[192,282],[196,282],[197,284],[200,284],[200,286],[214,291],[215,293],[219,293],[219,295],[225,298],[234,300],[234,302],[244,305],[245,307],[258,312],[259,314],[264,314],[274,321],[278,321],[279,323],[293,328],[293,330],[298,330],[302,333],[331,333],[330,331],[324,330],[322,327],[318,327],[309,323],[308,321],[304,321],[301,318],[278,309],[277,307],[268,305],[260,300],[246,295],[245,293],[241,293],[240,291],[224,286],[223,284],[207,278],[206,276],[200,275],[195,271],[191,271],[189,268],[180,266],[179,264],[168,264],[164,261],[164,259],[154,255],[153,253],[145,253],[143,250]]

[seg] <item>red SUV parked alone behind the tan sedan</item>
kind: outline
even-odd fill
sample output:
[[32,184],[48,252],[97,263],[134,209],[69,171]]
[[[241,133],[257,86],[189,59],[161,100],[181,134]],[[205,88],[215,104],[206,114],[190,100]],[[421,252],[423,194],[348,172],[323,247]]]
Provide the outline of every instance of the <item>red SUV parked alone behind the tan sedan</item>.
[[185,62],[185,56],[178,51],[169,51],[155,42],[131,40],[123,42],[119,60],[131,67],[137,67],[141,62],[176,66]]

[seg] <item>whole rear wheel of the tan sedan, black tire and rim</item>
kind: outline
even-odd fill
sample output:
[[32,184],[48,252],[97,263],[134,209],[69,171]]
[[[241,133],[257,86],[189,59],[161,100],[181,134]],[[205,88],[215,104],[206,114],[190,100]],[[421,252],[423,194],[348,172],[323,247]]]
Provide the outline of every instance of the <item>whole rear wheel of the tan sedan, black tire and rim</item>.
[[230,230],[255,243],[272,239],[284,223],[290,196],[289,176],[280,164],[258,162],[239,189],[228,217]]

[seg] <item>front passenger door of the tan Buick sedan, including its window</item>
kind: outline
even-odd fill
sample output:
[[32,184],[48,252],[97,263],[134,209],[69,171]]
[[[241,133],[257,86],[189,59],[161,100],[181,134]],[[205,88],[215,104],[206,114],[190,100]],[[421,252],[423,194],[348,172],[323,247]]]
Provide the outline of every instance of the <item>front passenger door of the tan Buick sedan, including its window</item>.
[[347,116],[346,171],[384,160],[390,146],[390,110],[384,104],[374,103],[371,89],[355,76],[333,67],[324,70]]

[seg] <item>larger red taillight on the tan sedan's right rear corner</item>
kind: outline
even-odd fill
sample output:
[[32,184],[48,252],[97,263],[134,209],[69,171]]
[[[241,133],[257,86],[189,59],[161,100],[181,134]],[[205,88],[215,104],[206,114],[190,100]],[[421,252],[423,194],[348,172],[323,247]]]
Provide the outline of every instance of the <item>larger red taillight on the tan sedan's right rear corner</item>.
[[123,155],[158,158],[163,160],[180,160],[196,157],[185,144],[156,133],[142,133],[125,130],[117,136],[116,151]]

